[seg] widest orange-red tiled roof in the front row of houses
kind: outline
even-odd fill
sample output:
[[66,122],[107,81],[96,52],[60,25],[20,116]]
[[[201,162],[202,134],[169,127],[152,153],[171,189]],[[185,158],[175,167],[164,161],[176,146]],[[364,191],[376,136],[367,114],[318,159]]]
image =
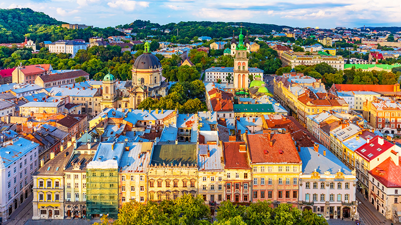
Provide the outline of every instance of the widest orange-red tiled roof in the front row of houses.
[[301,163],[289,133],[248,134],[247,143],[252,163]]

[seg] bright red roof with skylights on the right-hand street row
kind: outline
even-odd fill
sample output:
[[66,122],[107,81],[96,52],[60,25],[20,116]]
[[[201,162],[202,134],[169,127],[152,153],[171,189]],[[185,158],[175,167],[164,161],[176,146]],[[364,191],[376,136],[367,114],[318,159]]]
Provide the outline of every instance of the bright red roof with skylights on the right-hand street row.
[[[378,143],[379,139],[383,140],[383,145]],[[366,143],[361,147],[359,147],[357,150],[355,150],[355,152],[358,153],[358,155],[360,155],[366,161],[370,162],[371,160],[376,159],[376,157],[380,156],[382,153],[386,152],[393,146],[394,146],[393,143],[384,140],[380,136],[376,136],[372,140],[370,140],[369,143]],[[379,151],[379,149],[381,150]]]

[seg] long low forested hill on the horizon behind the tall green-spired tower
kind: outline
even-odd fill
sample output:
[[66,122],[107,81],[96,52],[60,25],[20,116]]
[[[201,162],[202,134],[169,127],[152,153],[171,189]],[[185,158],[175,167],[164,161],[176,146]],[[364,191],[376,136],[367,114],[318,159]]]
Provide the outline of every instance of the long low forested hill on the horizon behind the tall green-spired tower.
[[[235,35],[239,34],[240,26],[244,27],[244,31],[248,30],[250,34],[267,34],[272,30],[281,31],[283,28],[289,28],[288,26],[279,26],[274,24],[264,24],[264,23],[234,23],[234,22],[210,22],[210,21],[188,21],[179,23],[169,23],[166,25],[160,25],[157,23],[151,23],[150,21],[135,20],[131,24],[120,25],[122,28],[134,28],[133,32],[137,33],[151,33],[152,35],[161,34],[160,31],[151,31],[151,28],[158,29],[170,29],[170,35],[177,35],[180,38],[188,37],[193,38],[196,36],[209,36],[211,38],[227,38],[233,35],[233,30],[236,32]],[[144,29],[139,29],[143,28]]]

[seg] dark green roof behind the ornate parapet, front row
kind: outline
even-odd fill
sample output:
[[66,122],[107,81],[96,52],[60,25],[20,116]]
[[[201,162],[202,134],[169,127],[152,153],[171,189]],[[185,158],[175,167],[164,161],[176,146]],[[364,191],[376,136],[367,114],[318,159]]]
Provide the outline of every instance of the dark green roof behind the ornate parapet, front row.
[[179,143],[176,145],[173,143],[154,146],[151,164],[178,165],[180,162],[185,165],[197,164],[196,144]]

